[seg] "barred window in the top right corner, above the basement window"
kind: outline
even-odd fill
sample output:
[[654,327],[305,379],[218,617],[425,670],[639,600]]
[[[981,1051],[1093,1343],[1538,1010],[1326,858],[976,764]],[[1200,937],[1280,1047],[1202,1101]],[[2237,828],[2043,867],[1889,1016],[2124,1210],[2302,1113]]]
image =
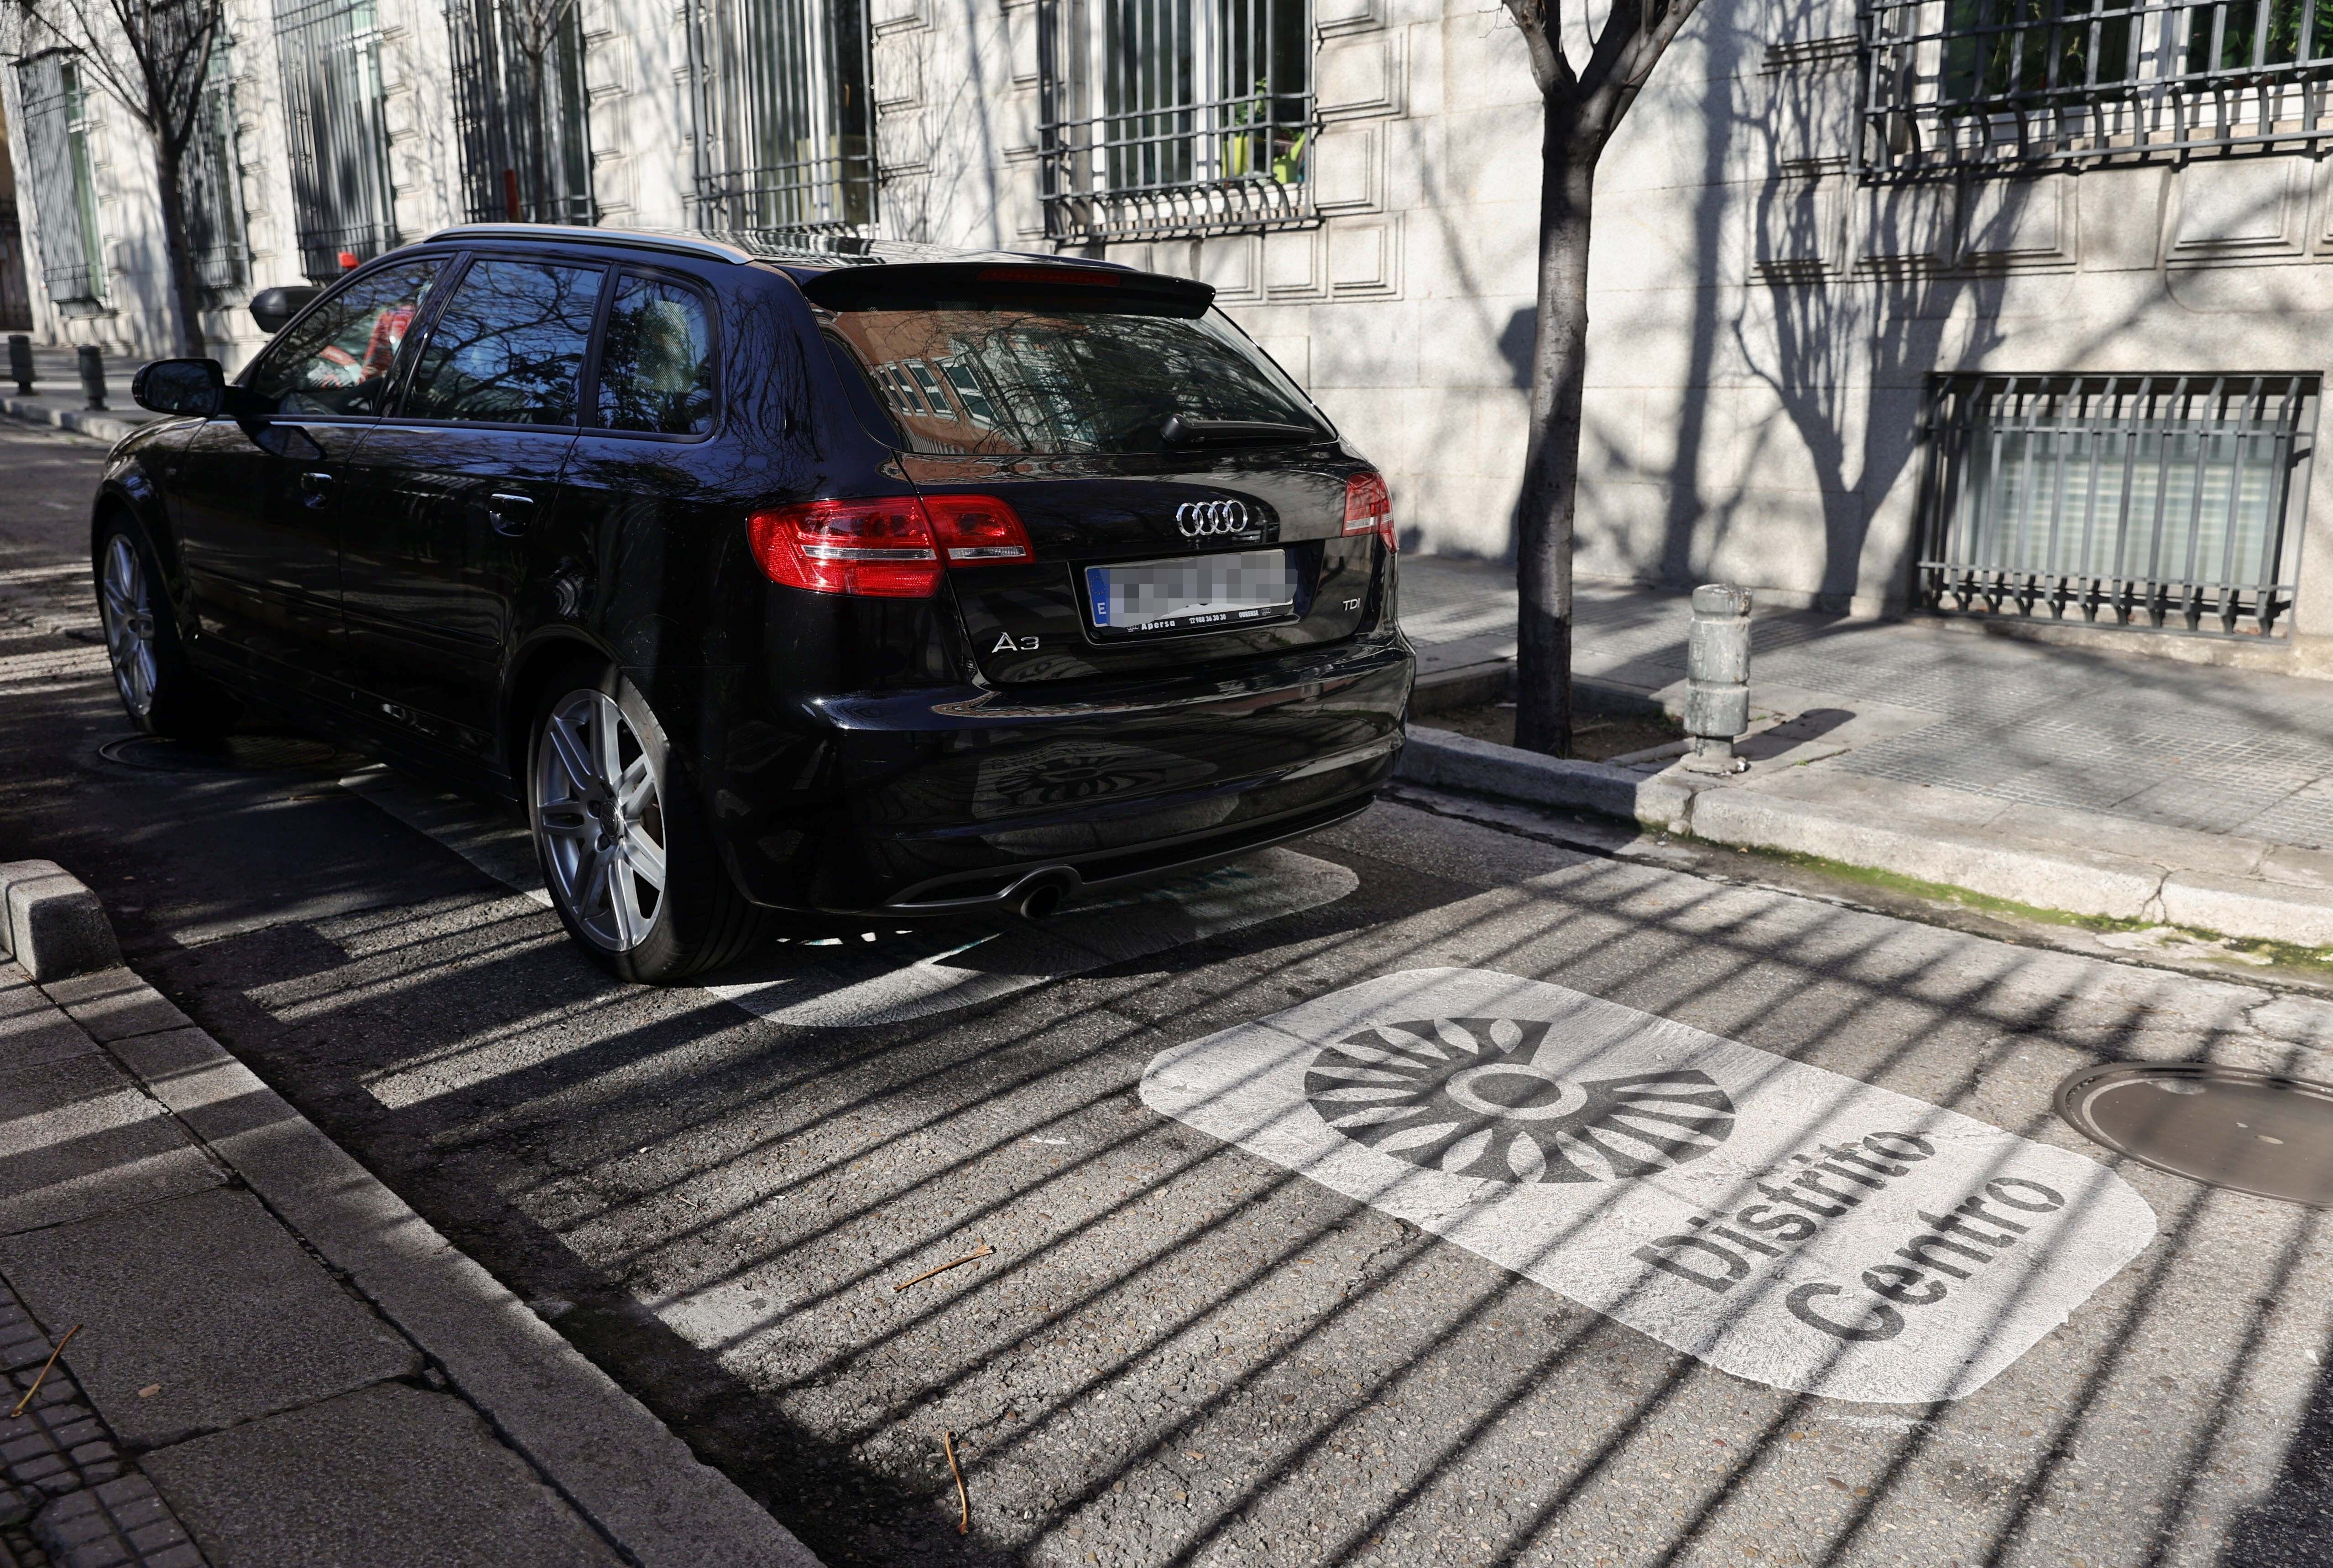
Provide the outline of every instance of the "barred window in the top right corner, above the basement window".
[[1869,173],[2324,147],[2333,0],[1876,0]]

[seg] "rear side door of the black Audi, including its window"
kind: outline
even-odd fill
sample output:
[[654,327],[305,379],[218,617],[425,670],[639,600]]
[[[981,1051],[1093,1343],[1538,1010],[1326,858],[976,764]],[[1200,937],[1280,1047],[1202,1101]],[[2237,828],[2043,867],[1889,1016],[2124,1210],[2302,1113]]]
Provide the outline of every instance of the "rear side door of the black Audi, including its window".
[[490,756],[530,541],[558,502],[607,268],[478,254],[357,453],[341,614],[378,714]]

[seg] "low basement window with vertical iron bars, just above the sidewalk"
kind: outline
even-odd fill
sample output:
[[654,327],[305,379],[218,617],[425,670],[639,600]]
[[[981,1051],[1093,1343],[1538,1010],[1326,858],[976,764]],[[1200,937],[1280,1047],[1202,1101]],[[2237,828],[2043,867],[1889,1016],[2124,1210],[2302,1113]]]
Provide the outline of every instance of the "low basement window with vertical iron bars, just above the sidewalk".
[[2300,376],[1939,378],[1918,597],[2265,637],[2314,418]]

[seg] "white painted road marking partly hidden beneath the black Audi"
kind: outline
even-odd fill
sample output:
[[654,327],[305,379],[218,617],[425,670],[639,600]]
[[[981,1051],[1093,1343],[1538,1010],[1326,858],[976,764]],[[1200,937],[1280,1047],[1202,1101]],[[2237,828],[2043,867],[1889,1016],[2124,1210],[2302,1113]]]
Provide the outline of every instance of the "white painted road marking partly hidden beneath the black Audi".
[[[341,784],[551,908],[534,842],[513,821],[457,796],[406,784],[385,768],[366,768]],[[765,957],[721,971],[721,980],[705,989],[777,1024],[870,1029],[1316,910],[1355,887],[1360,877],[1332,861],[1260,849],[1229,866],[1073,903],[1043,924],[952,919],[772,943]],[[432,1071],[441,1078],[448,1064],[439,1062]],[[446,1090],[439,1085],[432,1092]]]

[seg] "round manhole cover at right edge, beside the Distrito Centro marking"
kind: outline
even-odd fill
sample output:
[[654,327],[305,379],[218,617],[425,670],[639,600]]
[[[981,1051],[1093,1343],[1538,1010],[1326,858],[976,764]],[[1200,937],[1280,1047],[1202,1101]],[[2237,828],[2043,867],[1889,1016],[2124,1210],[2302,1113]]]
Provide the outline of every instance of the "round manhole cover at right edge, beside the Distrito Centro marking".
[[2086,1066],[2058,1085],[2058,1115],[2158,1171],[2333,1209],[2333,1083],[2202,1062]]

